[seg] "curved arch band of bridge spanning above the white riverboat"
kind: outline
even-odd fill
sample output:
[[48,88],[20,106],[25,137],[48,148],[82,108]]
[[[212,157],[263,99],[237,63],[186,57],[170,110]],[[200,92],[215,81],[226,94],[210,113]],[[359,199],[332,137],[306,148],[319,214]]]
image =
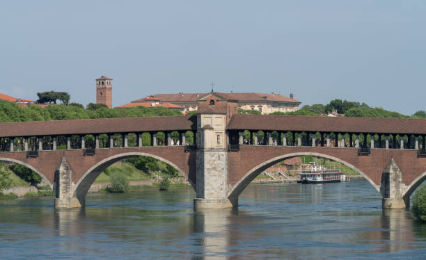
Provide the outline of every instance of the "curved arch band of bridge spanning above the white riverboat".
[[237,181],[237,183],[234,186],[232,186],[232,189],[228,193],[228,198],[238,197],[243,192],[243,190],[248,186],[248,184],[250,184],[251,181],[253,181],[253,179],[255,179],[256,176],[258,176],[260,173],[262,173],[264,170],[271,167],[272,165],[279,163],[280,161],[283,161],[285,159],[290,159],[290,158],[293,158],[293,157],[303,156],[303,155],[318,156],[318,157],[323,157],[323,158],[326,158],[326,159],[331,159],[333,161],[338,161],[338,162],[348,166],[349,168],[356,170],[356,172],[361,174],[365,179],[367,179],[370,182],[370,184],[378,192],[380,192],[380,186],[377,185],[377,184],[374,184],[374,181],[372,181],[372,179],[370,179],[370,177],[368,177],[367,174],[365,174],[363,171],[356,168],[351,163],[347,163],[346,161],[343,161],[341,159],[338,159],[337,157],[330,156],[330,155],[327,155],[327,154],[321,154],[321,153],[317,153],[317,152],[296,152],[296,153],[290,153],[290,154],[284,154],[284,155],[281,155],[281,156],[276,156],[272,159],[269,159],[269,160],[267,160],[263,163],[256,165],[254,168],[252,168],[251,170],[246,172],[246,174],[244,174],[244,176],[241,179],[239,179],[239,181]]

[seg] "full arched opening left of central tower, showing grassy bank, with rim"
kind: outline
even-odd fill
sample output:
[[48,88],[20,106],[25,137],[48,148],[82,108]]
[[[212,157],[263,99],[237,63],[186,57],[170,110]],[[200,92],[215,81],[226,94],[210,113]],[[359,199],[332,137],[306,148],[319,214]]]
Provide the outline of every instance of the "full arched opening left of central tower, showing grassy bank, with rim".
[[[116,189],[117,177],[126,180],[129,190]],[[93,184],[97,185],[92,188],[92,192],[102,189],[111,193],[122,193],[141,190],[146,186],[159,188],[164,179],[169,179],[173,186],[194,187],[187,173],[171,161],[153,154],[127,152],[93,165],[75,184],[72,197],[77,197],[81,205],[84,205],[86,195]]]

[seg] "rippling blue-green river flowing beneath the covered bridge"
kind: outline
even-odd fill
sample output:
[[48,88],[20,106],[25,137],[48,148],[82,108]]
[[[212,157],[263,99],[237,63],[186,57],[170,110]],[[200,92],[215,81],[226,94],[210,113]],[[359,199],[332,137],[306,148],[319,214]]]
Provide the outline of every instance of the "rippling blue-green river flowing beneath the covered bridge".
[[381,209],[365,180],[251,184],[234,210],[194,213],[194,191],[0,201],[0,259],[425,259],[426,225]]

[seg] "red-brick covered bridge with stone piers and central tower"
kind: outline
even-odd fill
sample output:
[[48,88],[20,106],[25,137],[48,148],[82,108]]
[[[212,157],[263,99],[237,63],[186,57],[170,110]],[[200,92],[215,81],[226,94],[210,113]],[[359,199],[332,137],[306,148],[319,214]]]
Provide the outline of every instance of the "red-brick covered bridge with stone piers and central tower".
[[[194,145],[187,143],[188,131]],[[143,144],[143,134],[150,144]],[[107,135],[104,145],[101,135]],[[0,161],[36,171],[54,188],[55,207],[72,208],[85,205],[88,188],[112,163],[152,156],[187,177],[196,190],[194,207],[203,209],[237,206],[244,188],[279,161],[322,156],[362,174],[384,207],[401,208],[426,179],[425,137],[420,119],[232,115],[210,108],[192,117],[0,123]]]

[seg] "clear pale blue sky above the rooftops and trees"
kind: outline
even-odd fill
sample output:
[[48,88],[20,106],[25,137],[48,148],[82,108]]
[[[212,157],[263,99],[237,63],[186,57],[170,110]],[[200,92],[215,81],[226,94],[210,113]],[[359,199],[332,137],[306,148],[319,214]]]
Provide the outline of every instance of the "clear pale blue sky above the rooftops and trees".
[[426,1],[3,1],[0,92],[113,105],[159,92],[294,92],[426,109]]

